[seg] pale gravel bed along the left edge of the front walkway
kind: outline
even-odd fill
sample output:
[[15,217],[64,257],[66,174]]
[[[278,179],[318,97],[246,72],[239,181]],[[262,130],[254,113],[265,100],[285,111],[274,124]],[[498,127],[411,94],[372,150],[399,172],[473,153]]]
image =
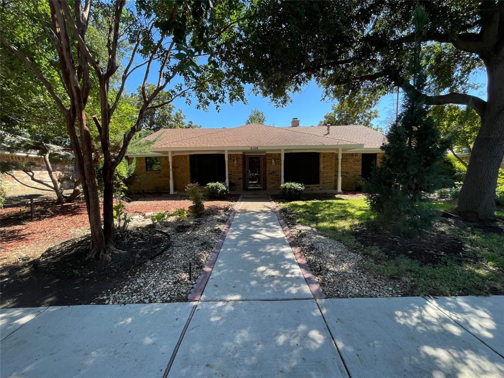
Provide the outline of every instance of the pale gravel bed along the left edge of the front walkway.
[[171,246],[161,255],[130,272],[121,284],[98,296],[95,303],[187,301],[187,295],[224,229],[231,210],[232,205],[229,205],[225,209],[207,210],[200,218],[187,218],[157,225],[156,228],[161,231],[152,230],[152,232],[169,234]]

